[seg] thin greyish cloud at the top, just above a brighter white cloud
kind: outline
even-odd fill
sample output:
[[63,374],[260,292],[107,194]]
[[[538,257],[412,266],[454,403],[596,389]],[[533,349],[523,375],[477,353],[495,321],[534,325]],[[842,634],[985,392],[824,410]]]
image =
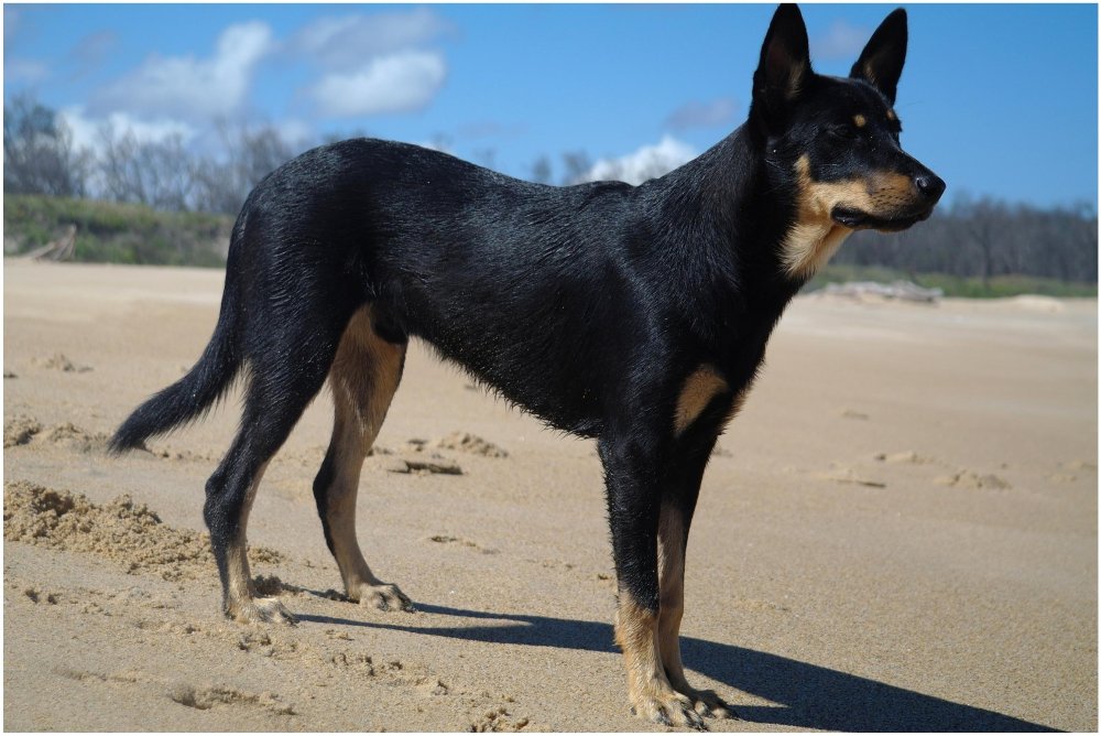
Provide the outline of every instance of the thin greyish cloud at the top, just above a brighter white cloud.
[[373,15],[321,18],[291,41],[293,51],[334,71],[353,71],[370,56],[382,56],[435,41],[451,31],[427,8]]

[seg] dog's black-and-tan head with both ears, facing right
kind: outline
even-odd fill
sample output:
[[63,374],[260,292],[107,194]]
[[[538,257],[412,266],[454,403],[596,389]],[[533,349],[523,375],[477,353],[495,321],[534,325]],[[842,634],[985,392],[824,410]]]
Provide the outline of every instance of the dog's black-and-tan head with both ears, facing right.
[[776,10],[753,75],[750,126],[770,166],[793,182],[799,219],[844,232],[903,230],[926,219],[945,183],[902,150],[895,91],[906,58],[906,11],[872,34],[849,77],[810,68],[799,9]]

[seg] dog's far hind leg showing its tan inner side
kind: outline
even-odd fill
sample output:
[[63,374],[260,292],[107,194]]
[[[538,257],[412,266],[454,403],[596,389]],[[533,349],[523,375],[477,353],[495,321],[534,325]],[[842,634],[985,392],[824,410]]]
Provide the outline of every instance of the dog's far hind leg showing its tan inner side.
[[314,498],[325,542],[340,566],[348,597],[383,610],[411,610],[410,599],[396,585],[374,576],[356,540],[360,469],[382,427],[405,360],[405,344],[380,337],[373,316],[370,306],[352,316],[329,371],[335,405],[333,439],[314,480]]

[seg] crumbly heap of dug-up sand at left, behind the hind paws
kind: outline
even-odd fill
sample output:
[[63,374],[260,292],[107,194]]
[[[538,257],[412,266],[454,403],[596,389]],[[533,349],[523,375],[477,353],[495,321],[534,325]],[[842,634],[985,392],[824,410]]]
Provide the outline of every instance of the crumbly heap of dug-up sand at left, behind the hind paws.
[[[175,529],[144,504],[120,496],[106,506],[81,494],[26,480],[4,484],[3,538],[68,552],[91,552],[121,563],[130,573],[150,572],[166,581],[210,575],[209,537]],[[254,560],[276,562],[279,553],[251,550]]]

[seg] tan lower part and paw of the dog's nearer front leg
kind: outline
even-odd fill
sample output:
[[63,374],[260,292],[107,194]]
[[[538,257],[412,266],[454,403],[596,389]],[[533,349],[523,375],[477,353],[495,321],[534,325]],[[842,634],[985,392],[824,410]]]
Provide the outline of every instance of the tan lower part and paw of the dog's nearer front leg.
[[623,650],[628,697],[637,716],[665,725],[704,728],[693,702],[677,693],[665,675],[657,645],[657,616],[622,589],[615,611],[615,643]]

